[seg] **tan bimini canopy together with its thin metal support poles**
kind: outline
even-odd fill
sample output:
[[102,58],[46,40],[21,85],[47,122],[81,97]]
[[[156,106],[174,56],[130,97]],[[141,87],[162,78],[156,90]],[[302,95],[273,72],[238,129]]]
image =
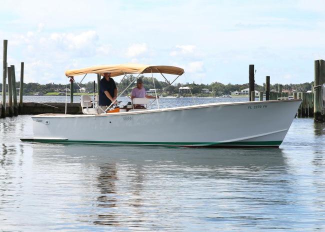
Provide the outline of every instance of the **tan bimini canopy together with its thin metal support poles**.
[[[166,66],[166,65],[145,65],[145,64],[129,63],[129,64],[117,64],[117,65],[99,65],[99,66],[91,66],[91,67],[86,67],[86,68],[81,68],[81,69],[66,70],[65,75],[68,78],[70,78],[70,80],[73,81],[74,80],[73,77],[75,75],[84,74],[83,78],[81,79],[81,81],[82,81],[84,79],[84,77],[86,76],[86,74],[88,74],[88,73],[96,73],[96,74],[100,74],[103,76],[104,73],[106,73],[106,72],[109,72],[111,77],[120,76],[120,75],[124,74],[121,81],[125,78],[125,76],[127,74],[133,74],[133,73],[138,74],[132,81],[130,81],[130,83],[127,85],[127,87],[117,97],[120,97],[131,86],[131,84],[133,84],[135,82],[135,80],[138,78],[138,76],[140,74],[151,72],[151,77],[152,77],[152,82],[153,82],[153,87],[154,87],[154,92],[155,92],[154,100],[157,100],[157,106],[159,108],[158,96],[160,96],[164,91],[166,91],[172,85],[172,83],[180,75],[182,75],[184,73],[184,69],[182,69],[180,67]],[[157,94],[157,92],[156,92],[153,73],[160,73],[162,75],[162,77],[169,84],[159,94]],[[168,79],[162,73],[175,74],[177,76],[176,76],[176,78],[174,78],[174,80],[172,82],[169,82]],[[81,83],[81,81],[79,83]],[[77,86],[79,86],[79,85],[77,84]],[[154,102],[154,100],[152,102]],[[66,101],[67,101],[67,99],[65,98],[65,104],[67,103]],[[152,104],[152,102],[150,104]],[[101,107],[99,107],[99,108],[103,111],[103,113],[106,113],[106,111],[111,107],[112,104],[113,104],[113,102],[111,102],[110,105],[107,106],[107,108],[105,110],[103,110]],[[66,113],[66,111],[65,111],[65,113]]]

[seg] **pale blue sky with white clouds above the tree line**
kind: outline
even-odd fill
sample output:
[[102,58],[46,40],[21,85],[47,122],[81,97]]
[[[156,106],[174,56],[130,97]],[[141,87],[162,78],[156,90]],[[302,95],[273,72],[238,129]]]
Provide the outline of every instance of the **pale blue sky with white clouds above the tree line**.
[[24,82],[133,62],[180,66],[183,83],[247,83],[249,64],[258,84],[302,83],[325,59],[325,0],[1,0],[0,39]]

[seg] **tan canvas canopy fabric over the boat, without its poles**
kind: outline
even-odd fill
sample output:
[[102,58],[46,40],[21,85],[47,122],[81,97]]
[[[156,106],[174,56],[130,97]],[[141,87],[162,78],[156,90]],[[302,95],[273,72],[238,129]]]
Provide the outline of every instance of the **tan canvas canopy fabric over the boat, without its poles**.
[[124,74],[132,74],[132,73],[166,73],[166,74],[174,74],[181,75],[184,73],[184,69],[180,67],[174,66],[165,66],[165,65],[145,65],[145,64],[137,64],[137,63],[126,63],[126,64],[115,64],[115,65],[98,65],[85,67],[80,69],[71,69],[66,70],[66,76],[76,76],[82,75],[86,73],[97,73],[100,75],[104,75],[104,72],[110,72],[111,77],[119,76]]

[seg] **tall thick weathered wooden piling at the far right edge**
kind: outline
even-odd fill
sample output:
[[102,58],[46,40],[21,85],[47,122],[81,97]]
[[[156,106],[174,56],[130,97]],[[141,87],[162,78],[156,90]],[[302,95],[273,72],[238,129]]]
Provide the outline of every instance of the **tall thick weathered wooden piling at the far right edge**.
[[324,116],[321,115],[321,88],[319,85],[325,82],[325,60],[314,61],[314,72],[313,119],[315,121],[324,121]]

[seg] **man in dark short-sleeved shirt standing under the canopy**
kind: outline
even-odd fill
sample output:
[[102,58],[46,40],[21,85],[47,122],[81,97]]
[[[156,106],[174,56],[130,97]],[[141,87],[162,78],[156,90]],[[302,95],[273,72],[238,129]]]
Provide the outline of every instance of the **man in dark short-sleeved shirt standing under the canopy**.
[[117,98],[117,88],[113,78],[110,78],[110,73],[104,73],[104,77],[99,82],[99,105],[109,106]]

